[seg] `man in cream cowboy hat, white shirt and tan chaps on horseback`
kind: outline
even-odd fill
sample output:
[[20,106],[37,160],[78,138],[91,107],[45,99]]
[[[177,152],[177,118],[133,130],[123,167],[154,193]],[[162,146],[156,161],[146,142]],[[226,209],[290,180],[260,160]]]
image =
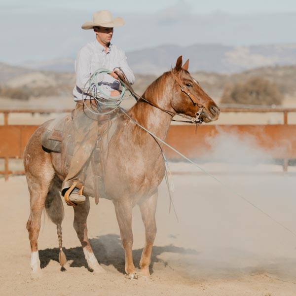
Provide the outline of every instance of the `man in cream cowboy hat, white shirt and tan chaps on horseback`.
[[84,182],[82,170],[96,145],[100,126],[109,120],[108,116],[92,112],[94,106],[97,110],[100,108],[102,110],[102,106],[98,106],[98,101],[89,94],[90,88],[96,87],[90,84],[89,78],[99,69],[111,71],[111,74],[99,74],[99,87],[95,89],[96,97],[105,99],[120,95],[120,83],[116,79],[118,75],[115,69],[119,68],[130,84],[135,81],[124,51],[111,44],[113,28],[123,25],[124,20],[121,17],[112,18],[110,11],[102,10],[93,14],[92,22],[86,22],[81,26],[84,30],[93,29],[96,39],[79,50],[75,61],[76,85],[73,90],[76,102],[73,111],[75,148],[68,174],[62,185],[62,195],[65,195],[66,200],[68,197],[70,200],[68,204],[85,201],[85,196],[82,195]]

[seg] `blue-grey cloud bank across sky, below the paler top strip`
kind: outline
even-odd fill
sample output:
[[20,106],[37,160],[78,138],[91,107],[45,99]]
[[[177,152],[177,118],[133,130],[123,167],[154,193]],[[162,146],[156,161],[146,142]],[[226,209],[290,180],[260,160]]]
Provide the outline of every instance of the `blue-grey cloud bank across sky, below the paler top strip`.
[[[112,41],[126,52],[165,44],[296,42],[296,13],[196,14],[191,8],[187,1],[179,1],[158,13],[120,14],[126,25],[114,30]],[[91,30],[80,28],[90,18],[89,11],[69,8],[15,9],[9,13],[0,10],[0,26],[5,28],[1,34],[0,62],[19,64],[75,57],[80,47],[94,39]]]

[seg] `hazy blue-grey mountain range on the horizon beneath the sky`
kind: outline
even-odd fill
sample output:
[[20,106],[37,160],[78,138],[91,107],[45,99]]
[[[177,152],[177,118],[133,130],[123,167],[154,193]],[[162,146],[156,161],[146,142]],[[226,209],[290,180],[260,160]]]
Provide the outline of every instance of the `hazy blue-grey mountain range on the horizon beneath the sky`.
[[[205,71],[223,74],[238,73],[266,66],[296,64],[296,44],[226,46],[195,44],[162,45],[126,53],[134,73],[162,74],[174,66],[178,56],[189,59],[190,72]],[[74,59],[30,62],[22,67],[40,71],[73,72]]]

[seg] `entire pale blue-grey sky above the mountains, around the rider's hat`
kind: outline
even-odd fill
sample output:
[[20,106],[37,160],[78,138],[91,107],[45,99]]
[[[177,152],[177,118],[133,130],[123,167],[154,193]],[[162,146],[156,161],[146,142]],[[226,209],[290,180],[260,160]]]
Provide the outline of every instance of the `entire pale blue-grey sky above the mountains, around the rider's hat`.
[[164,44],[296,43],[296,0],[1,0],[0,62],[74,58],[94,39],[81,24],[103,9],[125,19],[112,43],[126,52]]

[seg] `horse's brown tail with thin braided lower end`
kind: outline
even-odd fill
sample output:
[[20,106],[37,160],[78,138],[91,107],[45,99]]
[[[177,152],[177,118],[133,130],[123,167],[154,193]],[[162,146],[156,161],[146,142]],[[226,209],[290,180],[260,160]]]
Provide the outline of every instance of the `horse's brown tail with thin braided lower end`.
[[63,252],[63,237],[62,237],[62,222],[64,219],[64,206],[61,200],[59,192],[61,188],[61,181],[55,176],[50,184],[46,199],[45,199],[45,210],[49,219],[57,225],[57,234],[59,239],[59,262],[63,267],[66,262],[66,256]]

